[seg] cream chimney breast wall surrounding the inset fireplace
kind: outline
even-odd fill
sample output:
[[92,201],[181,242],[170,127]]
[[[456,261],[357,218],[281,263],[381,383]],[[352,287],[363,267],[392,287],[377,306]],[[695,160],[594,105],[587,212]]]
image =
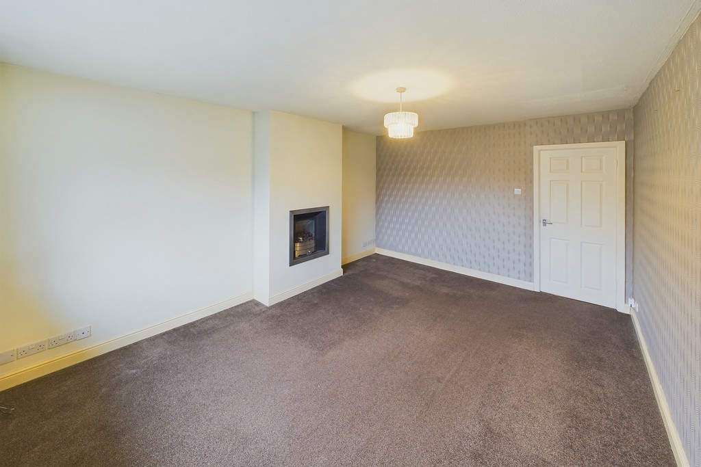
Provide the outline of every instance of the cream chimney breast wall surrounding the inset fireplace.
[[[261,201],[265,193],[257,196],[255,207],[257,242],[266,235],[259,229],[269,225],[268,295],[258,283],[264,274],[256,275],[255,289],[257,300],[267,305],[294,289],[302,291],[304,284],[341,273],[342,130],[341,125],[278,111],[257,113],[255,124],[257,187],[266,171],[269,176],[268,210]],[[329,254],[290,266],[290,211],[320,206],[329,206]],[[255,251],[256,262],[259,255],[264,260],[259,246]]]

